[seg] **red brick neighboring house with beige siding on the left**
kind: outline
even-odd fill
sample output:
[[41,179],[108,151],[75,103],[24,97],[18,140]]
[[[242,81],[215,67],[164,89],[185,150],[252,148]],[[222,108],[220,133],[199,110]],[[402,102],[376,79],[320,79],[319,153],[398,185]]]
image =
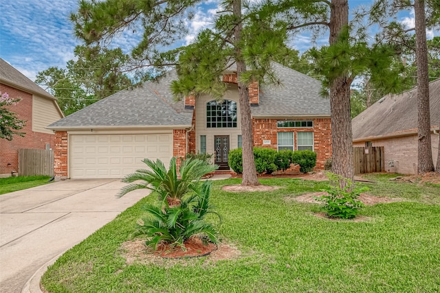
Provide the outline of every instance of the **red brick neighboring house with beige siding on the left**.
[[0,58],[0,91],[21,101],[10,110],[26,126],[20,130],[25,137],[14,135],[12,141],[0,139],[0,176],[19,172],[19,149],[54,148],[54,132],[46,126],[64,117],[54,96],[26,78],[8,62]]

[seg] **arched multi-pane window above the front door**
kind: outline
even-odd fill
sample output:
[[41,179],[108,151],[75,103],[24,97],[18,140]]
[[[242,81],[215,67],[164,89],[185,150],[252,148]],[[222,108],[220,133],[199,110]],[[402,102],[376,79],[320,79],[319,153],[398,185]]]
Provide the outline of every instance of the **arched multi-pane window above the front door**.
[[210,101],[206,103],[206,127],[236,127],[236,102],[223,99],[223,102]]

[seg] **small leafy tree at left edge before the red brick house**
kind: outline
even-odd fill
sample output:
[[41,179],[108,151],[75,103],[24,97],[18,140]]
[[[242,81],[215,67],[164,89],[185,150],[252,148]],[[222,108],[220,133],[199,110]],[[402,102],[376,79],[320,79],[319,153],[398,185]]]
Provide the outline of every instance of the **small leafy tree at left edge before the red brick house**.
[[0,92],[0,139],[12,141],[13,135],[25,136],[23,129],[25,121],[17,118],[17,115],[10,110],[10,106],[15,106],[20,99],[13,99],[8,93]]

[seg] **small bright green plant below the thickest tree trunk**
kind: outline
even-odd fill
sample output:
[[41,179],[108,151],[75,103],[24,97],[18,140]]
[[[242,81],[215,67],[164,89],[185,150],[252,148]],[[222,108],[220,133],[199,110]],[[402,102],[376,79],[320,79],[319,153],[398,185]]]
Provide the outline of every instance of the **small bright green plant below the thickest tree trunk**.
[[[361,192],[368,190],[367,187],[355,188],[353,182],[340,175],[327,173],[330,185],[327,189],[328,196],[316,198],[324,203],[322,209],[330,218],[352,219],[359,213],[359,209],[364,207],[364,203],[358,200]],[[344,181],[344,187],[340,187],[340,182]]]

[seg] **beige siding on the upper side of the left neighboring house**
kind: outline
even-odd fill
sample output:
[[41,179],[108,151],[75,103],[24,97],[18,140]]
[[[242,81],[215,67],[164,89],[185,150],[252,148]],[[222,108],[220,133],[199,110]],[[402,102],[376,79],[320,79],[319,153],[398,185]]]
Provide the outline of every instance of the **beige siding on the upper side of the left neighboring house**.
[[46,126],[63,118],[54,100],[34,95],[32,99],[32,131],[53,134]]

